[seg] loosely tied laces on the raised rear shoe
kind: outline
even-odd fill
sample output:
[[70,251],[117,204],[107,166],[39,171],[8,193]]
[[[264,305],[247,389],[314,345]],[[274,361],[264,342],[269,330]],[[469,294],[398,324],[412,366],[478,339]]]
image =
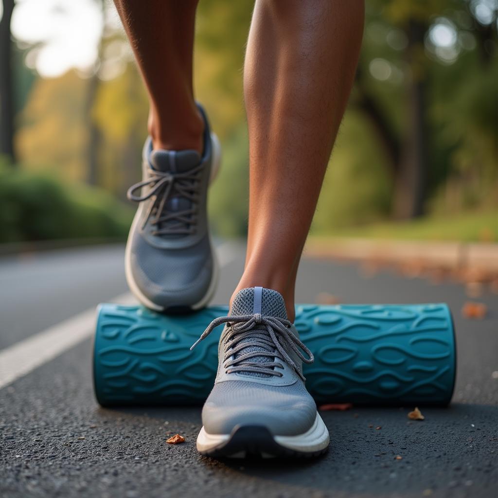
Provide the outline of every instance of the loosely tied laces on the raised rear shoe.
[[[150,203],[142,228],[148,220],[156,226],[153,235],[188,235],[195,232],[197,223],[197,201],[199,200],[198,184],[203,165],[181,172],[171,173],[156,171],[149,167],[147,180],[132,185],[126,192],[126,197],[133,202],[143,202],[154,197]],[[143,195],[135,195],[142,187],[149,186]],[[167,212],[165,209],[168,198],[184,197],[192,202],[192,207],[183,211]],[[176,222],[176,223],[171,223]]]

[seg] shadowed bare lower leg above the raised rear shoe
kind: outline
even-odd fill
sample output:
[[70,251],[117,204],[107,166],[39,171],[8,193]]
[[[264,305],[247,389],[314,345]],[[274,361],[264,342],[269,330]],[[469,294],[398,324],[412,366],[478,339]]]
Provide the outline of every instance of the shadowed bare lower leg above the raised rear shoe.
[[154,149],[202,152],[204,124],[192,90],[198,0],[115,0],[147,86]]

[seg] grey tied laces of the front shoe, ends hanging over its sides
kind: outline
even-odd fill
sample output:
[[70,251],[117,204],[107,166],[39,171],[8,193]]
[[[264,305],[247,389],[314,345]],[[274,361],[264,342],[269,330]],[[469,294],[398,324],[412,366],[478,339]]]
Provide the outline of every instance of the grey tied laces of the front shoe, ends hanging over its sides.
[[[279,359],[286,362],[305,380],[294,360],[285,351],[285,347],[290,348],[303,363],[308,365],[314,361],[313,354],[291,332],[291,323],[284,318],[262,316],[261,313],[215,318],[190,349],[193,350],[213,329],[223,323],[228,323],[230,326],[224,338],[223,366],[226,373],[254,372],[281,377],[283,374],[274,370],[283,369],[283,365],[274,360]],[[238,355],[246,348],[251,348],[252,351]],[[299,350],[302,350],[308,358]],[[250,361],[254,357],[267,357],[273,361]]]

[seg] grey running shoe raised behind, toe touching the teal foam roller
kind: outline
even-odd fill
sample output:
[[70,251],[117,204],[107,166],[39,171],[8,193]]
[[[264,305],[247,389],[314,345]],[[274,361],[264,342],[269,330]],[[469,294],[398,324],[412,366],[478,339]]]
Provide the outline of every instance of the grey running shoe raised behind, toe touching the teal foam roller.
[[206,216],[207,190],[220,163],[220,144],[203,109],[204,151],[143,148],[143,180],[128,199],[140,203],[125,251],[126,281],[156,311],[199,309],[210,301],[218,266]]

